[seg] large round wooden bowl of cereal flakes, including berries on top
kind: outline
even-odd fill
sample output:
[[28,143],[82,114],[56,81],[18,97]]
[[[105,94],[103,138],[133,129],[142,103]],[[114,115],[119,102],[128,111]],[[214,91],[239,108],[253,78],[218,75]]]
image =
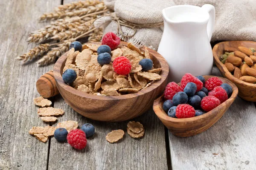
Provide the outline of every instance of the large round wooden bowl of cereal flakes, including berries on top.
[[169,66],[150,48],[138,49],[113,33],[106,35],[102,42],[84,46],[73,42],[53,72],[61,96],[76,112],[94,120],[121,122],[153,105],[167,84]]

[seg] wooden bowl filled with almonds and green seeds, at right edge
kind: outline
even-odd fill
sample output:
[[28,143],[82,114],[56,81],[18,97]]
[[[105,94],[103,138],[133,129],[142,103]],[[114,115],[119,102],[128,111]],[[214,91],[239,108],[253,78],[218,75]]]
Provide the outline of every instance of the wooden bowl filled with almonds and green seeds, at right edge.
[[213,47],[214,61],[221,74],[239,89],[239,96],[256,102],[256,42],[225,41]]

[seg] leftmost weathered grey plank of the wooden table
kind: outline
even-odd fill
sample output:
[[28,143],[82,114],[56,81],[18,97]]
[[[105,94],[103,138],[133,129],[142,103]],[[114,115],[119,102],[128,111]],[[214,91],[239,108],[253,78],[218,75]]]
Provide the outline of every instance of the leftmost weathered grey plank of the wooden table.
[[0,1],[0,169],[46,170],[48,142],[29,135],[32,126],[46,126],[36,114],[33,98],[39,96],[36,80],[53,65],[38,68],[23,65],[15,57],[33,48],[26,42],[29,32],[41,28],[38,17],[60,1]]

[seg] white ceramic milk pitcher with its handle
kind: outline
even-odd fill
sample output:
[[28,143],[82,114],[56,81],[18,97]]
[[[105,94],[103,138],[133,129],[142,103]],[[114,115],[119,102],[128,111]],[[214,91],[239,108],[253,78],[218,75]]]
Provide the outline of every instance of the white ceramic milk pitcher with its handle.
[[213,64],[210,40],[215,22],[214,6],[171,6],[163,9],[163,20],[163,37],[157,52],[169,64],[169,82],[180,82],[186,73],[194,76],[210,75]]

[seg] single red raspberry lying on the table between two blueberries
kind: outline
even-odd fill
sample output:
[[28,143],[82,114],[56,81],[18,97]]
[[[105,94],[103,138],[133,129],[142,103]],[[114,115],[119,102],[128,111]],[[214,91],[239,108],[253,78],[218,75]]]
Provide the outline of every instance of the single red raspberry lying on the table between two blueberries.
[[67,134],[67,142],[76,149],[84,149],[87,144],[86,135],[81,129],[71,130],[70,133]]

